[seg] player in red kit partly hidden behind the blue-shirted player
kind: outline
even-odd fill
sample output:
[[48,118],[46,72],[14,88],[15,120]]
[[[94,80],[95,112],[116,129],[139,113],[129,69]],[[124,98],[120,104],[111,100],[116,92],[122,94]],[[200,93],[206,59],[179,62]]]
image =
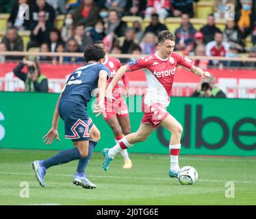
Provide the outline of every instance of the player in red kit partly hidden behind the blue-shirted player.
[[[105,51],[105,44],[102,40],[95,41],[94,46],[101,47]],[[110,57],[107,55],[105,55],[103,64],[105,64],[105,66],[110,69],[111,76],[108,81],[108,83],[110,83],[117,70],[122,66],[122,64],[115,57]],[[129,79],[127,75],[123,75],[122,79],[125,86],[126,95],[129,96]],[[118,83],[116,83],[112,90],[112,96],[114,97],[114,99],[105,99],[105,109],[102,112],[104,120],[111,127],[114,133],[116,143],[118,143],[124,135],[126,136],[131,133],[128,107],[125,103],[125,100],[123,99],[122,94],[120,93],[120,88],[118,86]],[[132,163],[127,153],[127,150],[125,149],[123,151],[120,151],[120,154],[123,156],[125,162],[123,168],[131,168]]]

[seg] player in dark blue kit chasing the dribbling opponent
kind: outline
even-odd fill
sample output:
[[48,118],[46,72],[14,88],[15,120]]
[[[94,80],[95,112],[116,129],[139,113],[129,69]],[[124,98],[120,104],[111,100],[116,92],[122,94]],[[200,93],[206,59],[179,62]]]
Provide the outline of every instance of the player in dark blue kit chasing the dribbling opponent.
[[110,70],[101,64],[104,56],[103,49],[94,46],[88,47],[84,53],[87,64],[71,73],[60,94],[53,114],[52,127],[43,137],[44,142],[51,144],[54,138],[60,141],[57,126],[59,118],[62,118],[65,125],[65,138],[73,141],[74,148],[60,151],[53,157],[36,160],[32,163],[36,178],[42,187],[45,186],[44,175],[48,168],[79,159],[73,183],[81,185],[83,188],[97,188],[84,174],[90,157],[92,157],[92,151],[100,139],[99,129],[92,123],[86,110],[88,102],[92,98],[92,90],[99,88],[99,103],[94,105],[94,113],[99,116],[103,111],[105,89],[107,80],[110,78]]

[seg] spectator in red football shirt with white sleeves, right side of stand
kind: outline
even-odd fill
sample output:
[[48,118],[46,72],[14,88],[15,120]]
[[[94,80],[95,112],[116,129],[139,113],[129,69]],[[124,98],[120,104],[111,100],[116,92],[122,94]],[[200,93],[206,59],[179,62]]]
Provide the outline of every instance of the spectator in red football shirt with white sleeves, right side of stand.
[[[214,40],[206,44],[206,55],[207,56],[222,56],[225,57],[229,51],[229,43],[223,42],[223,34],[215,33]],[[218,60],[210,62],[210,65],[218,66],[220,63]]]

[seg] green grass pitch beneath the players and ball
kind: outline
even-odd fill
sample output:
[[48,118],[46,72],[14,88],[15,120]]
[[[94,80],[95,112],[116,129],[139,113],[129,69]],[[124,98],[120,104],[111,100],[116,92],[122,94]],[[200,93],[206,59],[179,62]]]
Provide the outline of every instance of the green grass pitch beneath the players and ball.
[[[194,166],[196,185],[181,185],[168,177],[168,155],[131,154],[133,168],[122,169],[116,156],[105,172],[103,156],[94,153],[86,170],[97,185],[86,190],[73,185],[77,161],[47,170],[42,188],[31,162],[57,151],[0,149],[0,205],[255,205],[256,159],[180,156],[180,166]],[[21,198],[21,182],[29,183],[29,198]],[[235,197],[226,198],[227,181],[235,185]]]

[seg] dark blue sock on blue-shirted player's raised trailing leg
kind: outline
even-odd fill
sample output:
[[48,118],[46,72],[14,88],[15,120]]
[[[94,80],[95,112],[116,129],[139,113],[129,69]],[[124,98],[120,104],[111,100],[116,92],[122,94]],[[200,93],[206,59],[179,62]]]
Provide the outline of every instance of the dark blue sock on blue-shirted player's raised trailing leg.
[[44,159],[42,165],[48,169],[51,166],[58,164],[66,164],[73,161],[74,159],[81,159],[81,154],[77,148],[60,151],[60,153],[57,153],[57,155],[54,155],[48,159]]

